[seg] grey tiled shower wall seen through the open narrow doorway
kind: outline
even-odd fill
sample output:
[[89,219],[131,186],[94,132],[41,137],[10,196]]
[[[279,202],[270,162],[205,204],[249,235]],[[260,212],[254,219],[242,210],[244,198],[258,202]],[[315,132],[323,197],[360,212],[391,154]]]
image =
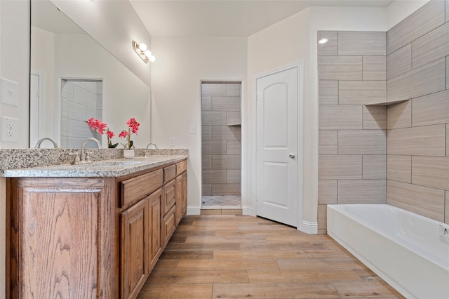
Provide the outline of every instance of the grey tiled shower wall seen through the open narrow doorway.
[[241,194],[241,83],[201,88],[203,195]]

